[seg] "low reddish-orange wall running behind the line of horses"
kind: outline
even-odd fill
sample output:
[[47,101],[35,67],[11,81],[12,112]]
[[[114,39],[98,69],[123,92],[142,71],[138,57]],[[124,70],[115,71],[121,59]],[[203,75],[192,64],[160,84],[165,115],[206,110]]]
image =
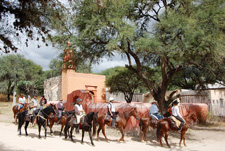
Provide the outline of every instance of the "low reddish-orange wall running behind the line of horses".
[[[149,109],[151,107],[150,103],[141,103],[141,102],[120,102],[114,103],[116,111],[119,113],[125,112],[132,107],[136,107],[138,111],[139,117],[148,117]],[[108,103],[90,103],[87,105],[86,113],[89,112],[99,112],[99,115],[107,113],[107,105]],[[203,103],[191,104],[191,103],[183,103],[180,104],[180,113],[182,116],[187,115],[190,112],[195,112],[200,122],[205,122],[208,118],[208,105]],[[131,117],[127,123],[125,128],[126,132],[129,131],[139,131],[139,120]]]

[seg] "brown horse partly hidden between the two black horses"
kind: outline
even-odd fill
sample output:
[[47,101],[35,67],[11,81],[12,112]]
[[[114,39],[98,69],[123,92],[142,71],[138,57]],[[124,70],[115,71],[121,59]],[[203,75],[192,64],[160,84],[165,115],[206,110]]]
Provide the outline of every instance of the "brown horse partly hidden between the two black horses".
[[[74,114],[74,112],[75,111],[72,110],[72,111],[65,111],[65,112],[62,113],[62,116],[61,116],[60,122],[59,122],[61,124],[60,136],[62,135],[62,130],[63,130],[64,126],[66,125],[66,118],[67,118],[67,116],[70,115],[70,114]],[[49,124],[50,133],[52,134],[53,133],[52,126],[54,125],[55,122],[58,121],[58,116],[57,115],[50,115],[48,117],[48,119],[49,119],[49,123],[50,123]]]

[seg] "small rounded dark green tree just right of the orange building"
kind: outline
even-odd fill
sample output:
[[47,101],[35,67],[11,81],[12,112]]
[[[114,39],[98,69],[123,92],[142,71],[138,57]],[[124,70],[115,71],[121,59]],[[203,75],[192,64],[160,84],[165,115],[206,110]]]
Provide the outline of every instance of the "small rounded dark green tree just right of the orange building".
[[114,73],[110,74],[106,78],[105,84],[110,88],[110,93],[122,92],[127,103],[132,101],[134,92],[138,89],[138,87],[143,85],[142,81],[139,80],[134,72],[131,72],[124,67],[116,67]]

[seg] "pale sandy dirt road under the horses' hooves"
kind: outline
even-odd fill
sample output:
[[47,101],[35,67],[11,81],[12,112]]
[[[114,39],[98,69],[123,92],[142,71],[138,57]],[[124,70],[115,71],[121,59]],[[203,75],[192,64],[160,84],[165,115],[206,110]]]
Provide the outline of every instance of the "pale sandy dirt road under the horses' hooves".
[[[55,126],[55,129],[59,128]],[[48,129],[49,131],[49,129]],[[169,143],[171,148],[160,147],[155,140],[155,136],[149,136],[148,143],[140,142],[140,137],[125,137],[125,143],[118,143],[116,139],[120,137],[118,131],[107,129],[107,136],[110,138],[110,143],[102,140],[96,141],[95,146],[91,146],[88,134],[85,133],[84,144],[80,143],[81,134],[74,134],[75,142],[70,139],[65,140],[64,137],[58,135],[51,136],[48,133],[47,138],[43,137],[44,131],[42,129],[42,138],[38,138],[37,127],[28,129],[29,136],[19,136],[17,126],[11,123],[0,123],[0,151],[66,151],[66,150],[85,150],[85,151],[211,151],[222,150],[225,144],[225,132],[222,131],[206,131],[206,130],[189,130],[187,133],[186,144],[187,147],[179,147],[178,134],[172,133],[169,136]],[[115,135],[118,136],[115,136]]]

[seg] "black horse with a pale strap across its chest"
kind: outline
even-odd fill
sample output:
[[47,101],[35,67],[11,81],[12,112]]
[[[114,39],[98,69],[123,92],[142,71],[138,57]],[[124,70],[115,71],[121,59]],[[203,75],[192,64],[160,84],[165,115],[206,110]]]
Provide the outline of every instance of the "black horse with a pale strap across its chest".
[[47,137],[47,119],[50,113],[55,114],[56,113],[56,107],[55,105],[50,104],[50,106],[46,107],[45,109],[42,109],[38,115],[37,115],[37,125],[38,125],[38,132],[39,132],[39,138],[41,138],[41,126],[45,129],[45,137]]

